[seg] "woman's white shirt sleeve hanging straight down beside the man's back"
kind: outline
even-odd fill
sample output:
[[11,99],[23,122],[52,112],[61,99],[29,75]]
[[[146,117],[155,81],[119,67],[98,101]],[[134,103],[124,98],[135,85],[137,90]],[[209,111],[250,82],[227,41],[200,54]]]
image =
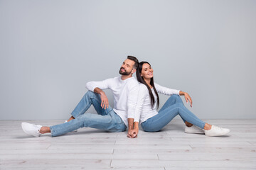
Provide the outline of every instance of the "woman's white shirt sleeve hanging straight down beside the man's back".
[[142,113],[142,106],[146,99],[146,92],[149,93],[149,91],[146,89],[146,86],[144,86],[144,84],[140,84],[137,104],[135,108],[134,122],[139,122],[139,118]]

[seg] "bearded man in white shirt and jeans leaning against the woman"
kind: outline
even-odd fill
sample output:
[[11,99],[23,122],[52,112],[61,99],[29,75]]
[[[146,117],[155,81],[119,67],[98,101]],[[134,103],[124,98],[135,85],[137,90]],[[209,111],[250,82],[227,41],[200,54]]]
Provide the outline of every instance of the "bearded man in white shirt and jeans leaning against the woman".
[[[82,127],[97,128],[109,132],[123,132],[129,128],[127,137],[137,137],[134,130],[134,110],[137,103],[138,82],[132,77],[138,67],[136,57],[128,56],[119,69],[120,77],[104,81],[90,81],[86,84],[89,91],[82,97],[71,113],[68,122],[50,127],[21,123],[24,132],[34,137],[51,133],[52,137],[72,132]],[[109,106],[102,89],[110,89],[114,95],[114,108]],[[85,113],[93,105],[97,114]]]

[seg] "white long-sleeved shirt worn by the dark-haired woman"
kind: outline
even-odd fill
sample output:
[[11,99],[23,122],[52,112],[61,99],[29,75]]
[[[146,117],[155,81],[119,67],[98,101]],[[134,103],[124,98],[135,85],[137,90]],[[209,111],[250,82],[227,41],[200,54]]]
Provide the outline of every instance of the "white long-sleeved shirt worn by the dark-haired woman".
[[[160,86],[159,84],[154,83],[154,86],[156,88],[156,91],[159,94],[165,94],[165,95],[173,95],[177,94],[179,95],[180,90],[176,89],[169,89],[164,86]],[[154,106],[151,108],[151,100],[149,96],[149,90],[147,89],[146,85],[139,84],[139,94],[137,98],[137,106],[135,108],[135,116],[134,116],[134,122],[143,123],[149,118],[152,118],[154,115],[158,114],[158,111],[156,109],[156,103],[157,103],[157,97],[154,92],[154,89],[151,89],[152,94],[154,95]]]

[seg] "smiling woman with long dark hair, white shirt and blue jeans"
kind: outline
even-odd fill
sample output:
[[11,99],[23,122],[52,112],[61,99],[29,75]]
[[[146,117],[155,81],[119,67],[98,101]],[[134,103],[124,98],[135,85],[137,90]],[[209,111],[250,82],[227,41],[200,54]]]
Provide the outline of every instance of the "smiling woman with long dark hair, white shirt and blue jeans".
[[[220,136],[230,132],[229,129],[219,128],[218,126],[205,123],[191,113],[191,111],[183,105],[180,98],[180,96],[184,96],[186,102],[188,103],[189,101],[192,107],[191,97],[186,92],[169,89],[154,83],[153,69],[149,62],[139,63],[139,67],[137,68],[137,80],[140,84],[137,108],[135,111],[134,129],[139,130],[137,124],[140,119],[144,131],[157,132],[171,122],[176,115],[180,115],[183,122],[186,124],[185,132],[187,133]],[[171,95],[159,112],[156,111],[159,107],[158,93]]]

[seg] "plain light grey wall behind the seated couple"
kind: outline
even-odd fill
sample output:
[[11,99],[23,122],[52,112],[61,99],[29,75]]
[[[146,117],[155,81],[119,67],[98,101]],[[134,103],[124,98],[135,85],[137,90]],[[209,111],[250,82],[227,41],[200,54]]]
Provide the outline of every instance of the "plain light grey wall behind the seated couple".
[[118,76],[127,55],[150,62],[159,84],[188,92],[199,118],[256,118],[255,8],[244,0],[0,1],[0,119],[69,118],[86,82]]

